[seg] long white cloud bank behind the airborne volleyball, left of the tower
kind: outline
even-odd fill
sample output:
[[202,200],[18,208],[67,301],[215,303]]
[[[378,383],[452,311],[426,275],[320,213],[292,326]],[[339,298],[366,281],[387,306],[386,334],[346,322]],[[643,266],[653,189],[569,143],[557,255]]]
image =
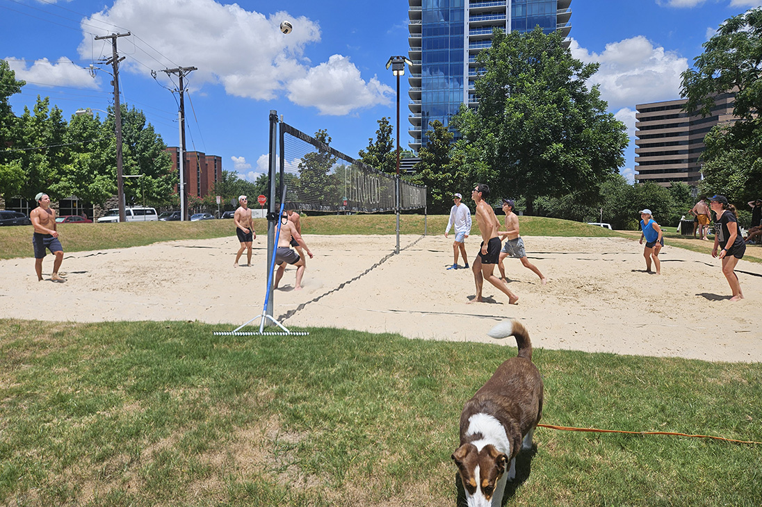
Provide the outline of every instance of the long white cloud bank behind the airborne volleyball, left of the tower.
[[[288,35],[280,32],[284,19],[293,24]],[[334,62],[312,68],[304,49],[320,41],[319,24],[286,11],[265,15],[216,0],[115,0],[82,21],[83,32],[92,26],[104,27],[104,34],[132,31],[133,37],[119,40],[120,52],[129,56],[123,62],[128,71],[147,75],[149,69],[197,67],[187,78],[191,88],[222,85],[227,94],[255,100],[272,100],[287,91],[296,104],[325,114],[386,104],[388,87],[375,78],[363,81],[348,61],[345,70],[354,73],[337,72]],[[92,47],[91,35],[85,34],[78,48],[82,58],[91,58]],[[104,48],[110,54],[110,46]],[[159,78],[167,80],[163,72]],[[315,83],[318,78],[329,81]]]

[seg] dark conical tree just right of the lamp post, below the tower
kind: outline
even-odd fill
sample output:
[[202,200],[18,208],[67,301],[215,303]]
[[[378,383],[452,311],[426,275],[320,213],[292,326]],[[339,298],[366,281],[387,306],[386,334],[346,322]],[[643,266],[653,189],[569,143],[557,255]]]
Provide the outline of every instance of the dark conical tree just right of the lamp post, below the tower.
[[469,197],[471,183],[466,183],[463,151],[453,147],[453,132],[439,120],[429,125],[431,130],[426,132],[429,140],[418,152],[421,161],[415,165],[413,182],[426,185],[429,212],[447,213],[453,206],[453,193]]

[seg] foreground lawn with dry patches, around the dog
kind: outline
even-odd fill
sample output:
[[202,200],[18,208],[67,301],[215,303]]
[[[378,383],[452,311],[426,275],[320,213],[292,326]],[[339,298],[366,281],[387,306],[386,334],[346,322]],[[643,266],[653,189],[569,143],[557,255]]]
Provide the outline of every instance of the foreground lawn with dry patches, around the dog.
[[[514,347],[0,320],[0,505],[455,505]],[[762,365],[536,349],[543,422],[762,442]],[[506,505],[758,505],[762,446],[538,429]]]

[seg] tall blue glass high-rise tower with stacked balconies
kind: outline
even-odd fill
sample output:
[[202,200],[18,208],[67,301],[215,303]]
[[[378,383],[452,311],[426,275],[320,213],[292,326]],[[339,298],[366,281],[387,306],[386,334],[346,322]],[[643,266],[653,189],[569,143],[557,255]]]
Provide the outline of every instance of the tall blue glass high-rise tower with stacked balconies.
[[[476,55],[491,46],[492,30],[571,30],[571,0],[408,0],[410,43],[409,116],[418,151],[429,122],[444,125],[460,104],[475,107]],[[568,44],[568,40],[566,41]]]

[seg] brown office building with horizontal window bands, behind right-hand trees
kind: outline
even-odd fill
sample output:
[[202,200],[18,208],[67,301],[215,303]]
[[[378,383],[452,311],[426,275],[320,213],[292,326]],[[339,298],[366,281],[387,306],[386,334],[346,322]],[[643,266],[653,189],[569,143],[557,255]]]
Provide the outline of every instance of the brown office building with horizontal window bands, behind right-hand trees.
[[662,187],[682,181],[695,187],[701,179],[699,156],[704,136],[713,126],[735,121],[733,94],[715,98],[706,118],[684,112],[687,99],[636,105],[636,181],[652,181]]

